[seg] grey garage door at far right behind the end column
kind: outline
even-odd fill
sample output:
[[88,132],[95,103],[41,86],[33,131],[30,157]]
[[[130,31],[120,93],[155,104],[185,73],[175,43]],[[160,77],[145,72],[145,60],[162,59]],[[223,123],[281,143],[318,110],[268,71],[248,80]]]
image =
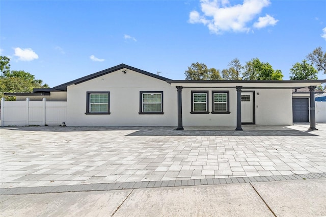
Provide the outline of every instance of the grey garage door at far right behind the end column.
[[292,99],[293,122],[309,122],[308,99]]

